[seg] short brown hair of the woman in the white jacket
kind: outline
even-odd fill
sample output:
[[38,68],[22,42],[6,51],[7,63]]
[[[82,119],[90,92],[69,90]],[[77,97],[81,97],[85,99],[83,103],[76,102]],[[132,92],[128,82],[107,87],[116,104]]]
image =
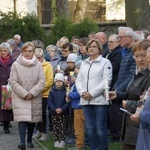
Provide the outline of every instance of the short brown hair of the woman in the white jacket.
[[87,43],[87,45],[86,45],[86,50],[88,50],[89,46],[90,46],[93,42],[95,42],[95,43],[97,44],[97,47],[98,47],[98,49],[99,49],[99,54],[101,55],[101,54],[103,53],[103,45],[102,45],[102,43],[101,43],[99,40],[97,40],[97,39],[91,39],[91,40]]

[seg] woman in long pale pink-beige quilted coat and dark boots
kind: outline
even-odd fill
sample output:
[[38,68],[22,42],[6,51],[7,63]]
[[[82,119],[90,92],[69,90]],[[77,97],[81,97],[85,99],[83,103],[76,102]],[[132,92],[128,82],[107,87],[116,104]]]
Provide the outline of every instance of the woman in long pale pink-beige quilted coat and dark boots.
[[32,134],[36,122],[42,121],[42,91],[45,77],[42,64],[36,59],[33,43],[26,42],[22,46],[22,53],[13,63],[9,83],[12,87],[12,105],[14,121],[18,122],[20,144],[18,148],[33,148]]

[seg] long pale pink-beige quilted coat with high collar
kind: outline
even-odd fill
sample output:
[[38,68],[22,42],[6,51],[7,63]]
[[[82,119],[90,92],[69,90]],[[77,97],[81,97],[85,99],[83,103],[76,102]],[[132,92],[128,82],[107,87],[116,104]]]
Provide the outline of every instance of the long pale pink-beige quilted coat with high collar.
[[[34,62],[27,65],[20,55],[12,65],[9,83],[12,88],[14,121],[41,122],[41,94],[45,84],[42,64],[34,58]],[[33,95],[31,100],[25,99],[28,92]]]

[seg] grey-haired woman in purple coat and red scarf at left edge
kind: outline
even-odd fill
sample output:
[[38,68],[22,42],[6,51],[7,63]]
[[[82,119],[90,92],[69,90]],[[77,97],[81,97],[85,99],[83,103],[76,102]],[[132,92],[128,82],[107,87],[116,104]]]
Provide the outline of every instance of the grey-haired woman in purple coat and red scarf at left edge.
[[[1,87],[7,85],[10,75],[10,69],[14,62],[11,57],[12,50],[9,43],[0,44],[0,100],[2,99]],[[0,121],[4,122],[4,132],[9,134],[9,121],[13,120],[12,110],[2,110],[0,103]]]

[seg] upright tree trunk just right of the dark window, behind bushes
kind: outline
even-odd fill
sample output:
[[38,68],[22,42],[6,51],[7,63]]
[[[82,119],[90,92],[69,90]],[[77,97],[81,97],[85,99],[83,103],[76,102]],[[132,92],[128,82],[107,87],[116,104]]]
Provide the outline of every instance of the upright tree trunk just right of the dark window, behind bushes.
[[70,17],[68,0],[56,0],[57,16]]

